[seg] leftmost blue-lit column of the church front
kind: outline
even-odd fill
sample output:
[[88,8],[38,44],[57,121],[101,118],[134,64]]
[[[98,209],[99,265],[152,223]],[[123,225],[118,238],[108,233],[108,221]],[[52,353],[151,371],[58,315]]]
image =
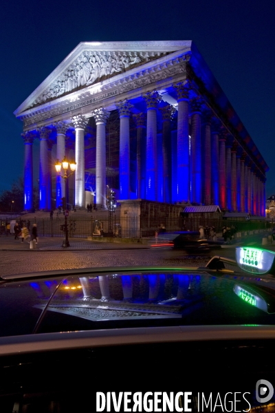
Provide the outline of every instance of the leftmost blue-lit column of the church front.
[[24,165],[24,210],[32,211],[33,208],[33,164],[32,164],[32,144],[34,135],[31,132],[21,134],[25,144],[25,165]]

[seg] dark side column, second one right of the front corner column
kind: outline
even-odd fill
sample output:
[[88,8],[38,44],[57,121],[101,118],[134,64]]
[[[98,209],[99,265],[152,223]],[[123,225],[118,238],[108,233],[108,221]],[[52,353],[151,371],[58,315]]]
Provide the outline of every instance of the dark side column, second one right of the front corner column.
[[211,200],[211,119],[212,112],[205,111],[202,116],[202,134],[201,134],[201,165],[202,165],[202,202],[210,205]]

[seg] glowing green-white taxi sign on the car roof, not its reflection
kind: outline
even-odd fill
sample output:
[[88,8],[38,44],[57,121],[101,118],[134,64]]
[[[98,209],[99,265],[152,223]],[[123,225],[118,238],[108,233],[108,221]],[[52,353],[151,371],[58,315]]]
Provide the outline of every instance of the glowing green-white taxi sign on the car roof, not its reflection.
[[272,270],[275,253],[261,248],[239,246],[236,248],[236,263],[247,273],[267,274]]

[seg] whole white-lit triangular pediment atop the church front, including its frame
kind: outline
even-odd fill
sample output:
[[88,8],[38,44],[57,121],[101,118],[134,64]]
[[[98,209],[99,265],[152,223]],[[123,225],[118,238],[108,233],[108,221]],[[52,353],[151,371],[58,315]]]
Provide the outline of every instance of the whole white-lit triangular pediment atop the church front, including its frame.
[[190,44],[190,41],[80,43],[14,114],[123,74]]

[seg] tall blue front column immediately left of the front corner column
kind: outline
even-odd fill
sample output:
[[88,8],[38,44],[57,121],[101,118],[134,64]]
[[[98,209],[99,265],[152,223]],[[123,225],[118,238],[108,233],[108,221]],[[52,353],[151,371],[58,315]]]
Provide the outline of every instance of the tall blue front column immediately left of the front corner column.
[[147,105],[146,200],[157,201],[157,105],[162,97],[156,90],[142,97]]

